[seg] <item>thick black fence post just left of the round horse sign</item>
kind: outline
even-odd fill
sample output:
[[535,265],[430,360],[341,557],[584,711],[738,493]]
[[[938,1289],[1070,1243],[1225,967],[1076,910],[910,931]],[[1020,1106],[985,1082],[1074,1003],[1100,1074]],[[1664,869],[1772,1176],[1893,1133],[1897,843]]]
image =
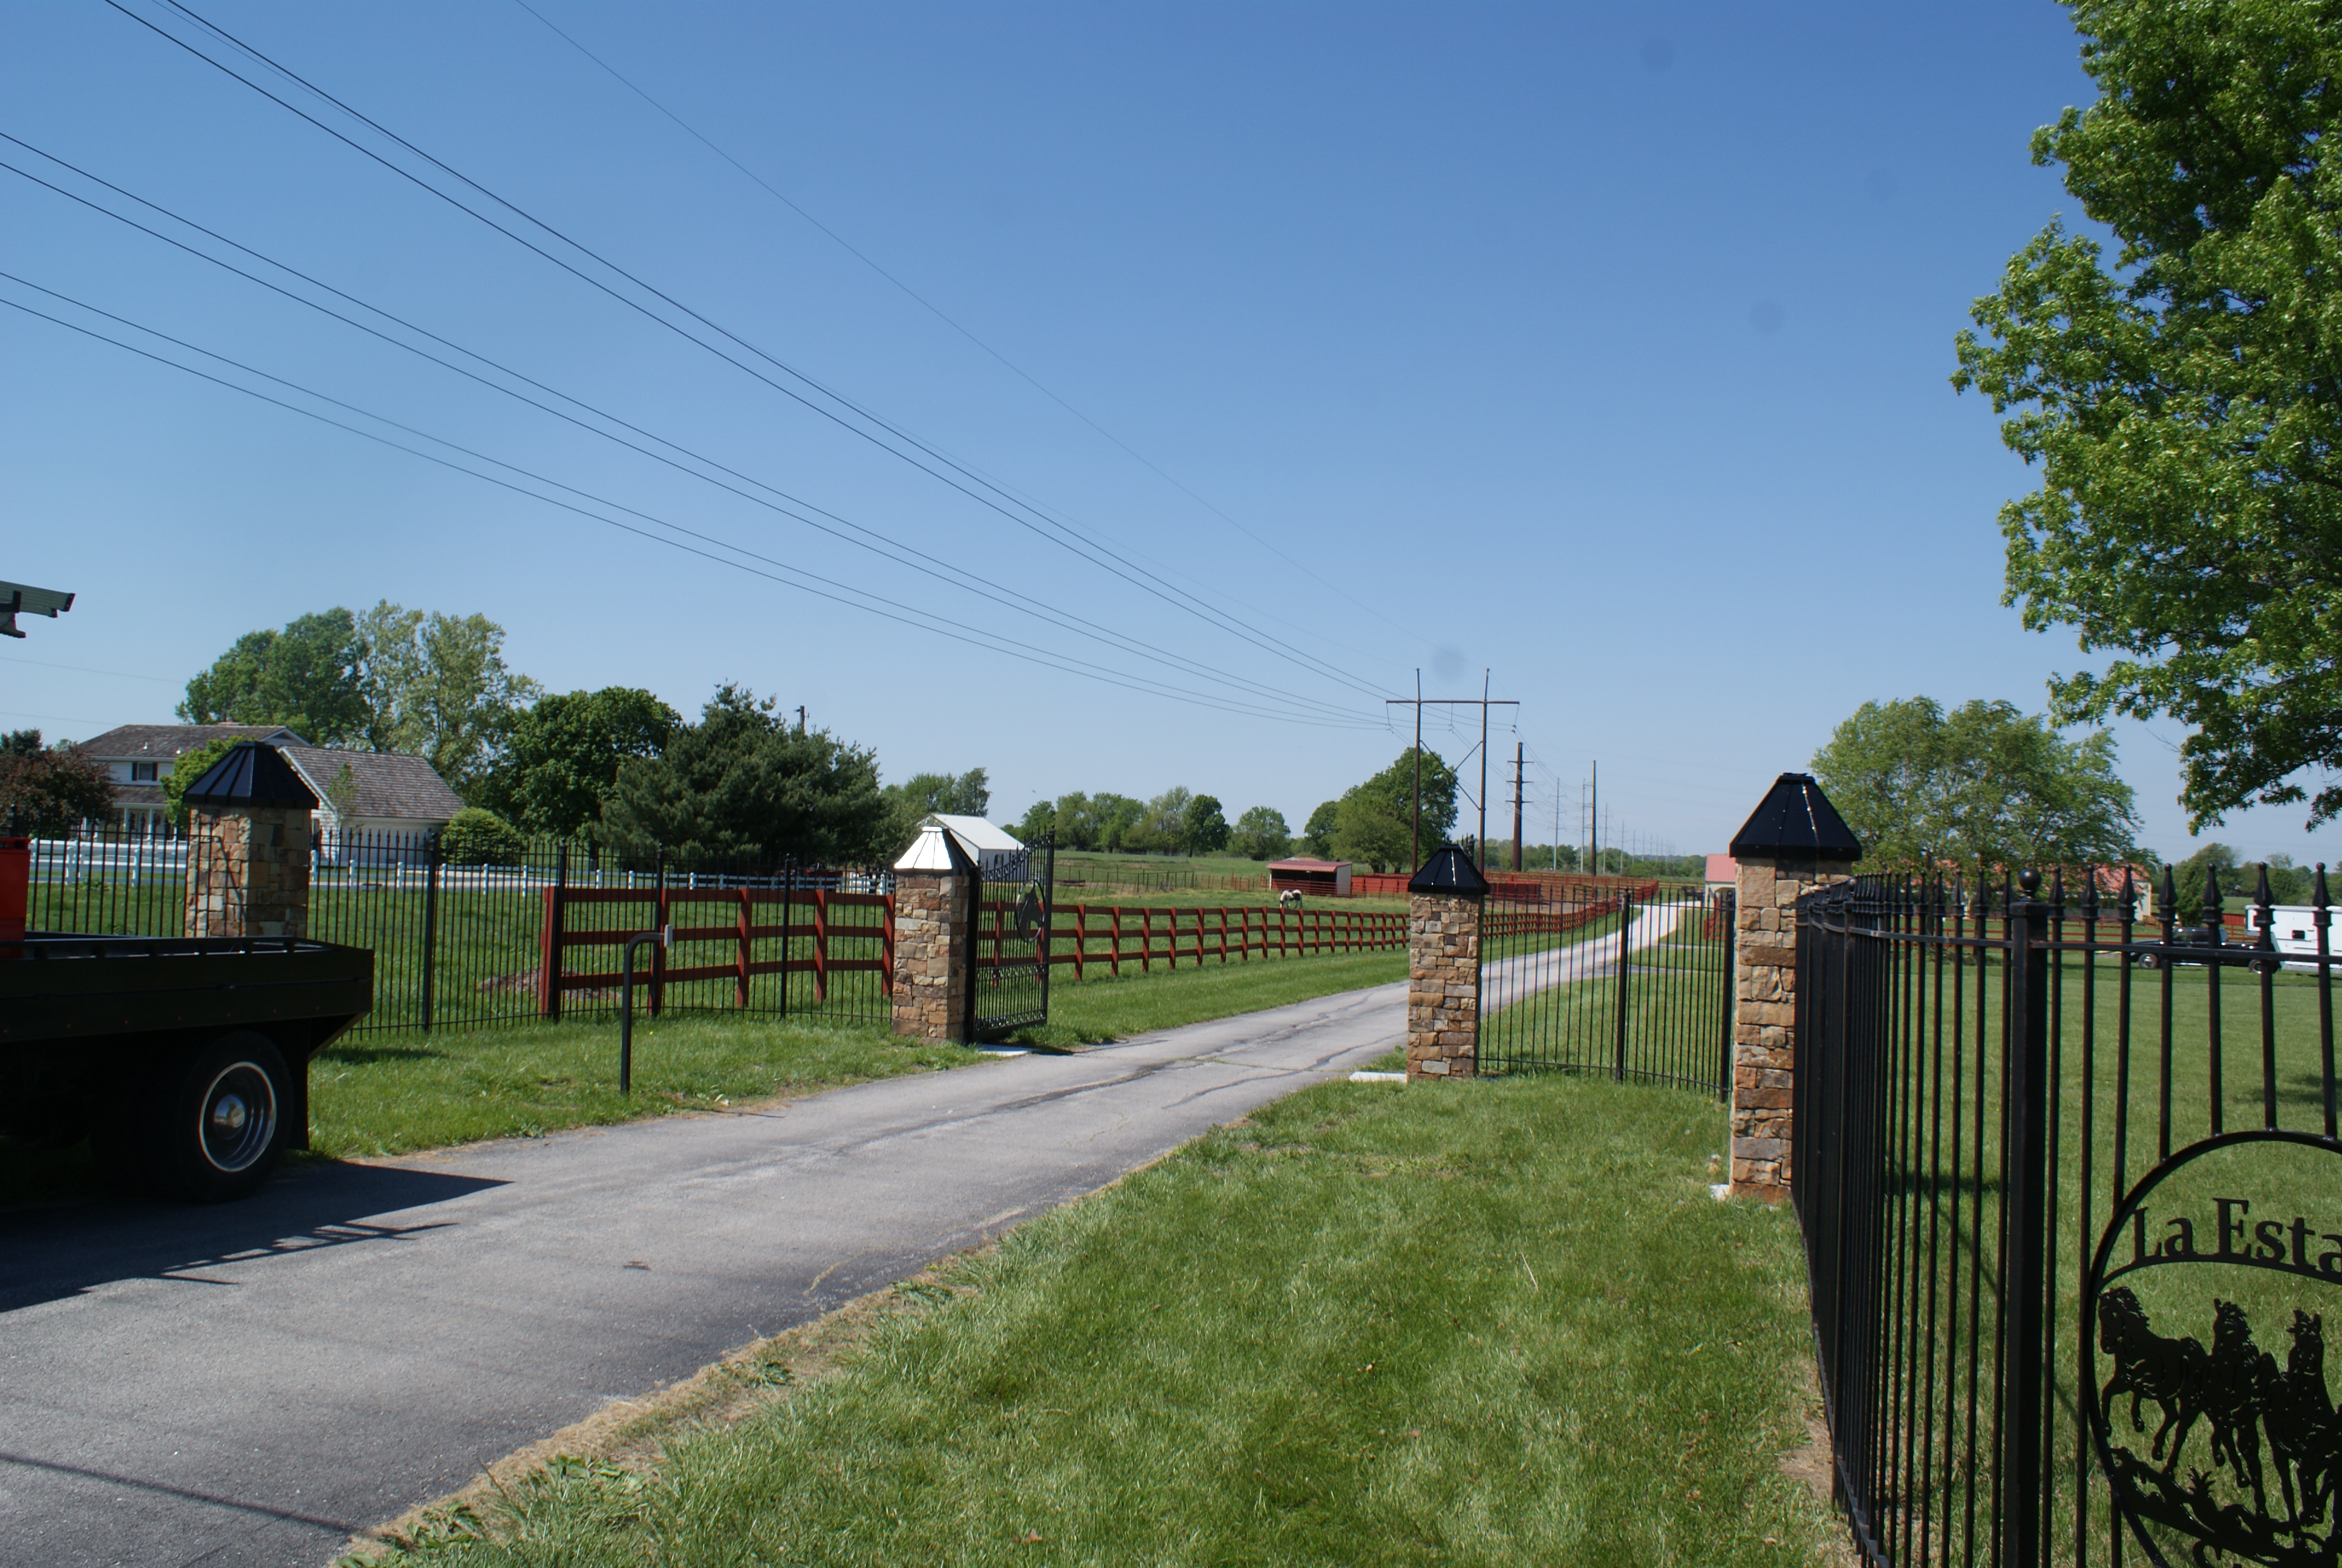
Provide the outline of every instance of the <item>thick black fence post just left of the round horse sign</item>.
[[[2009,984],[2009,1148],[2007,1148],[2007,1345],[2002,1371],[2007,1420],[2000,1430],[2000,1561],[2038,1563],[2042,1547],[2042,1383],[2049,1284],[2049,949],[2047,905],[2033,898],[2040,872],[2026,872],[2023,898],[2007,914]],[[1981,1106],[1979,1106],[1981,1109]]]

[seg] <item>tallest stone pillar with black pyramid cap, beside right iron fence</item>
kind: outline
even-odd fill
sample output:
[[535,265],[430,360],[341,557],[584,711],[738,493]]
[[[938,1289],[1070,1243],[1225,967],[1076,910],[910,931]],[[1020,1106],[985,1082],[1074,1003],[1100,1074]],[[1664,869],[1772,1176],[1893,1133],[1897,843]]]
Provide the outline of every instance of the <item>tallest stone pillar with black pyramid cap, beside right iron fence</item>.
[[1733,837],[1733,1195],[1789,1195],[1796,1130],[1796,900],[1862,846],[1806,773],[1782,773]]

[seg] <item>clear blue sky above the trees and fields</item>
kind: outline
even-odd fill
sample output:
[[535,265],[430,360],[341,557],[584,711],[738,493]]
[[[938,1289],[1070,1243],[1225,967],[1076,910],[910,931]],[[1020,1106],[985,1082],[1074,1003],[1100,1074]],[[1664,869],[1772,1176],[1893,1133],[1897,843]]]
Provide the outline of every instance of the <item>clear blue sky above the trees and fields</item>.
[[[0,298],[262,384],[82,307],[112,312],[724,558],[0,309],[0,574],[82,595],[0,649],[9,724],[166,720],[239,633],[389,598],[485,612],[555,689],[693,713],[738,680],[890,778],[981,764],[1000,818],[1183,783],[1297,825],[1401,750],[1382,696],[1417,668],[1478,694],[1490,668],[1522,703],[1492,778],[1527,743],[1532,839],[1557,799],[1579,837],[1600,759],[1614,832],[1696,851],[1864,698],[2040,708],[2082,661],[2000,607],[1993,516],[2026,471],[1946,384],[1970,298],[2075,211],[2026,159],[2089,98],[2054,5],[532,0],[934,309],[513,0],[190,5],[981,483],[939,483],[304,124],[136,19],[403,157],[162,0],[0,14],[0,131],[998,600],[0,171],[0,272],[23,279]],[[272,387],[335,413],[309,391]],[[2185,853],[2180,731],[2120,738],[2143,839]],[[2298,811],[2216,832],[2342,858]]]

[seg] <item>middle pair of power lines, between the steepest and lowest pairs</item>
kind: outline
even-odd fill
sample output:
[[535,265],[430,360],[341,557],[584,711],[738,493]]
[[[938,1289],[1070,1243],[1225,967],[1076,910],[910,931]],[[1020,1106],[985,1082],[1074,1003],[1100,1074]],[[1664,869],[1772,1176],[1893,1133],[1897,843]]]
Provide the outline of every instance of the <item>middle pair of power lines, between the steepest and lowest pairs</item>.
[[[117,211],[112,211],[112,209],[108,209],[108,206],[103,206],[98,202],[91,202],[89,197],[82,197],[82,195],[70,192],[70,190],[66,190],[61,185],[54,185],[52,180],[40,178],[37,173],[30,173],[28,169],[19,169],[16,164],[12,164],[7,159],[0,159],[0,169],[7,169],[9,173],[16,173],[23,180],[30,180],[33,185],[40,185],[42,190],[56,192],[56,195],[66,197],[68,202],[77,202],[77,204],[87,206],[89,211],[103,213],[105,218],[112,218],[115,223],[122,223],[122,225],[126,225],[131,230],[138,230],[141,234],[148,234],[148,237],[159,239],[159,241],[164,241],[169,246],[176,246],[178,251],[185,251],[187,255],[194,255],[197,260],[206,260],[213,267],[232,272],[234,277],[241,277],[241,279],[246,279],[246,281],[251,281],[251,284],[255,284],[260,288],[267,288],[267,291],[272,291],[272,293],[276,293],[276,295],[281,295],[286,300],[293,300],[295,305],[304,305],[304,307],[309,307],[309,309],[314,309],[314,312],[319,312],[323,316],[330,316],[333,321],[340,321],[340,323],[351,326],[351,328],[356,328],[361,333],[368,333],[370,338],[377,338],[377,340],[382,340],[382,342],[386,342],[386,345],[391,345],[396,349],[405,349],[408,354],[415,354],[415,356],[419,356],[419,359],[424,359],[424,361],[429,361],[433,366],[452,370],[452,373],[457,373],[457,375],[461,375],[466,380],[478,382],[480,387],[487,387],[487,389],[499,391],[499,394],[504,394],[508,398],[527,403],[529,408],[536,408],[536,410],[548,413],[548,415],[553,415],[557,420],[564,420],[564,422],[569,422],[569,424],[574,424],[574,427],[578,427],[578,429],[583,429],[583,431],[588,431],[593,436],[611,441],[611,443],[616,443],[616,445],[621,445],[621,448],[625,448],[630,452],[639,452],[642,457],[660,462],[660,464],[665,464],[665,466],[670,466],[670,469],[674,469],[679,473],[689,473],[691,478],[698,478],[700,483],[714,485],[717,490],[735,495],[735,497],[740,497],[740,499],[745,499],[745,502],[749,502],[754,506],[763,506],[766,511],[773,511],[778,516],[785,516],[785,518],[792,518],[796,523],[803,523],[806,527],[813,527],[813,530],[817,530],[822,534],[829,534],[834,539],[852,544],[855,548],[869,551],[869,553],[874,553],[874,555],[878,555],[883,560],[890,560],[895,565],[904,565],[904,567],[911,567],[913,572],[920,572],[925,577],[934,577],[937,581],[946,581],[953,588],[963,588],[967,584],[974,584],[984,598],[991,598],[991,600],[995,600],[1000,605],[1007,605],[1009,609],[1016,609],[1016,612],[1028,614],[1033,619],[1047,621],[1047,623],[1059,626],[1063,630],[1073,630],[1075,635],[1084,635],[1084,638],[1105,642],[1108,647],[1117,647],[1122,652],[1138,652],[1138,654],[1155,656],[1155,659],[1166,659],[1171,663],[1178,663],[1178,666],[1187,668],[1194,675],[1204,675],[1208,680],[1220,680],[1220,682],[1239,687],[1239,689],[1251,689],[1253,694],[1267,696],[1267,698],[1274,698],[1274,701],[1295,703],[1295,705],[1302,705],[1302,708],[1316,708],[1316,710],[1321,710],[1326,715],[1335,715],[1335,717],[1344,717],[1344,720],[1361,717],[1354,710],[1340,708],[1337,703],[1328,703],[1328,701],[1314,698],[1314,696],[1302,696],[1302,694],[1295,694],[1295,691],[1283,691],[1283,689],[1272,687],[1267,682],[1258,682],[1258,680],[1251,680],[1246,675],[1234,675],[1230,670],[1220,670],[1218,666],[1208,666],[1208,663],[1201,663],[1197,659],[1187,659],[1185,654],[1173,654],[1171,649],[1157,647],[1157,645],[1145,642],[1141,638],[1131,638],[1127,633],[1117,633],[1117,630],[1105,628],[1105,626],[1101,626],[1096,621],[1089,621],[1084,616],[1075,616],[1070,612],[1061,612],[1061,609],[1054,609],[1054,607],[1038,607],[1038,605],[1033,605],[1028,600],[1014,598],[1012,588],[1007,588],[1002,584],[995,584],[995,581],[991,581],[991,579],[986,579],[986,577],[981,577],[977,572],[970,572],[967,567],[958,567],[958,565],[953,565],[949,560],[930,555],[927,551],[920,551],[916,546],[902,544],[899,539],[881,534],[878,530],[871,530],[871,527],[864,527],[860,523],[852,523],[850,518],[843,518],[843,516],[838,516],[834,511],[815,506],[813,502],[806,502],[803,497],[789,495],[787,490],[780,490],[780,488],[775,488],[775,485],[771,485],[766,480],[759,480],[754,476],[740,473],[738,469],[731,469],[731,466],[726,466],[726,464],[721,464],[721,462],[717,462],[712,457],[693,452],[691,448],[686,448],[686,445],[682,445],[677,441],[670,441],[665,436],[646,431],[639,424],[632,424],[632,422],[628,422],[628,420],[623,420],[618,415],[611,415],[609,410],[595,408],[593,403],[588,403],[588,401],[583,401],[578,396],[560,391],[557,387],[548,387],[546,382],[539,382],[539,380],[534,380],[534,377],[529,377],[529,375],[525,375],[520,370],[513,370],[511,366],[504,366],[504,363],[499,363],[499,361],[494,361],[494,359],[489,359],[485,354],[466,349],[464,345],[452,342],[450,338],[443,338],[443,335],[438,335],[438,333],[433,333],[433,330],[429,330],[424,326],[417,326],[417,323],[412,323],[412,321],[408,321],[408,319],[403,319],[403,316],[398,316],[393,312],[386,312],[386,309],[382,309],[377,305],[370,305],[370,302],[365,302],[365,300],[361,300],[361,298],[356,298],[356,295],[351,295],[351,293],[347,293],[342,288],[335,288],[333,284],[326,284],[326,281],[321,281],[321,279],[316,279],[316,277],[311,277],[307,272],[300,272],[297,267],[288,267],[286,263],[279,263],[276,258],[265,255],[265,253],[260,253],[260,251],[255,251],[255,248],[251,248],[246,244],[239,244],[239,241],[230,239],[227,234],[208,230],[208,227],[194,223],[192,218],[185,218],[185,216],[180,216],[180,213],[176,213],[176,211],[171,211],[171,209],[166,209],[166,206],[162,206],[157,202],[148,202],[145,197],[141,197],[141,195],[136,195],[131,190],[124,190],[122,185],[115,185],[115,183],[110,183],[110,180],[105,180],[105,178],[101,178],[96,173],[89,173],[87,169],[80,169],[77,164],[70,164],[70,162],[56,157],[54,152],[44,152],[42,148],[35,148],[33,143],[23,141],[21,136],[9,136],[7,131],[0,131],[0,141],[9,141],[9,143],[14,143],[19,148],[26,148],[35,157],[42,157],[42,159],[56,164],[59,169],[70,169],[75,176],[80,176],[80,178],[84,178],[84,180],[89,180],[94,185],[103,185],[105,190],[124,197],[126,202],[136,202],[138,206],[145,206],[148,211],[155,211],[155,213],[162,213],[164,218],[169,218],[173,223],[180,223],[180,225],[185,225],[185,227],[190,227],[190,230],[194,230],[194,232],[199,232],[199,234],[204,234],[208,239],[215,239],[218,244],[225,244],[225,246],[230,246],[234,251],[241,251],[244,255],[251,255],[253,260],[258,260],[262,265],[276,267],[279,272],[283,272],[288,277],[297,277],[300,281],[309,284],[311,288],[321,288],[321,291],[326,291],[326,293],[330,293],[330,295],[335,295],[340,300],[347,300],[349,305],[354,305],[354,307],[358,307],[363,312],[382,316],[384,321],[393,321],[400,328],[405,328],[410,333],[417,333],[419,338],[438,342],[438,345],[447,347],[454,354],[473,359],[473,361],[478,361],[478,363],[482,363],[482,366],[487,366],[487,368],[492,368],[492,370],[497,370],[501,375],[508,375],[508,377],[513,377],[513,380],[518,380],[518,382],[522,382],[527,387],[536,387],[546,396],[553,396],[553,398],[560,398],[560,401],[571,403],[576,408],[583,408],[586,413],[595,415],[597,420],[607,420],[607,422],[611,422],[611,424],[616,424],[621,429],[635,431],[644,441],[653,441],[658,445],[672,448],[674,452],[682,452],[684,457],[691,457],[693,462],[707,464],[710,469],[717,469],[719,473],[738,478],[745,485],[754,485],[756,490],[763,490],[763,492],[775,495],[782,502],[787,502],[787,506],[780,506],[780,504],[773,504],[773,502],[768,502],[768,499],[763,499],[759,495],[749,495],[747,490],[740,490],[738,485],[728,485],[728,483],[724,483],[719,478],[700,473],[698,469],[691,469],[689,464],[682,464],[682,462],[667,457],[665,452],[653,452],[653,450],[649,450],[644,445],[637,445],[635,441],[628,441],[628,438],[616,436],[616,434],[611,434],[607,429],[588,424],[586,420],[578,420],[576,415],[569,415],[569,413],[564,413],[560,408],[553,408],[550,403],[541,403],[539,398],[532,398],[532,396],[527,396],[522,391],[504,387],[504,384],[499,384],[499,382],[494,382],[494,380],[489,380],[489,377],[485,377],[485,375],[480,375],[475,370],[468,370],[466,366],[457,366],[457,363],[452,363],[447,359],[440,359],[438,354],[431,354],[429,349],[419,349],[412,342],[403,342],[403,340],[393,338],[391,333],[384,333],[384,330],[379,330],[375,326],[368,326],[365,321],[356,321],[351,316],[344,316],[342,312],[337,312],[337,309],[333,309],[328,305],[321,305],[316,300],[302,298],[300,293],[295,293],[290,288],[283,288],[281,284],[272,284],[265,277],[258,277],[253,272],[246,272],[244,267],[237,267],[234,263],[220,260],[218,255],[208,255],[208,253],[204,253],[197,246],[190,246],[190,244],[185,244],[180,239],[173,239],[171,234],[152,230],[145,223],[138,223],[136,218],[117,213]],[[30,284],[30,281],[26,286],[40,288],[40,284]],[[49,291],[42,291],[42,293],[49,293]],[[56,298],[68,298],[68,295],[56,295]],[[96,309],[96,307],[89,307],[89,305],[84,305],[80,300],[73,300],[73,302],[82,305],[84,309]],[[105,314],[105,312],[98,312],[98,314]],[[124,326],[138,326],[138,323],[136,321],[126,321]],[[148,328],[141,326],[138,330],[148,330]],[[192,347],[192,345],[187,345],[187,347]],[[204,349],[194,349],[194,352],[204,352]],[[829,518],[838,527],[829,527],[824,523],[817,523],[815,518],[808,518],[801,511],[792,511],[792,506],[801,506],[801,509],[813,511],[813,513],[817,513],[822,518]],[[850,532],[841,532],[841,530],[850,530]],[[930,563],[930,565],[920,565],[920,563]],[[956,577],[944,577],[944,572],[951,572]]]

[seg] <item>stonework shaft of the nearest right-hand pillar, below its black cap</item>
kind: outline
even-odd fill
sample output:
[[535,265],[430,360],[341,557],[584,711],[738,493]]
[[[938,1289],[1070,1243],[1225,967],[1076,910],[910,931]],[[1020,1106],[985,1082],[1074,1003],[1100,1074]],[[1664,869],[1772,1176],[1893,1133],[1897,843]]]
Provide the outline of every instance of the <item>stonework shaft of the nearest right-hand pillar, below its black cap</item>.
[[1796,900],[1843,863],[1740,858],[1733,905],[1733,1193],[1789,1193],[1796,1120]]

